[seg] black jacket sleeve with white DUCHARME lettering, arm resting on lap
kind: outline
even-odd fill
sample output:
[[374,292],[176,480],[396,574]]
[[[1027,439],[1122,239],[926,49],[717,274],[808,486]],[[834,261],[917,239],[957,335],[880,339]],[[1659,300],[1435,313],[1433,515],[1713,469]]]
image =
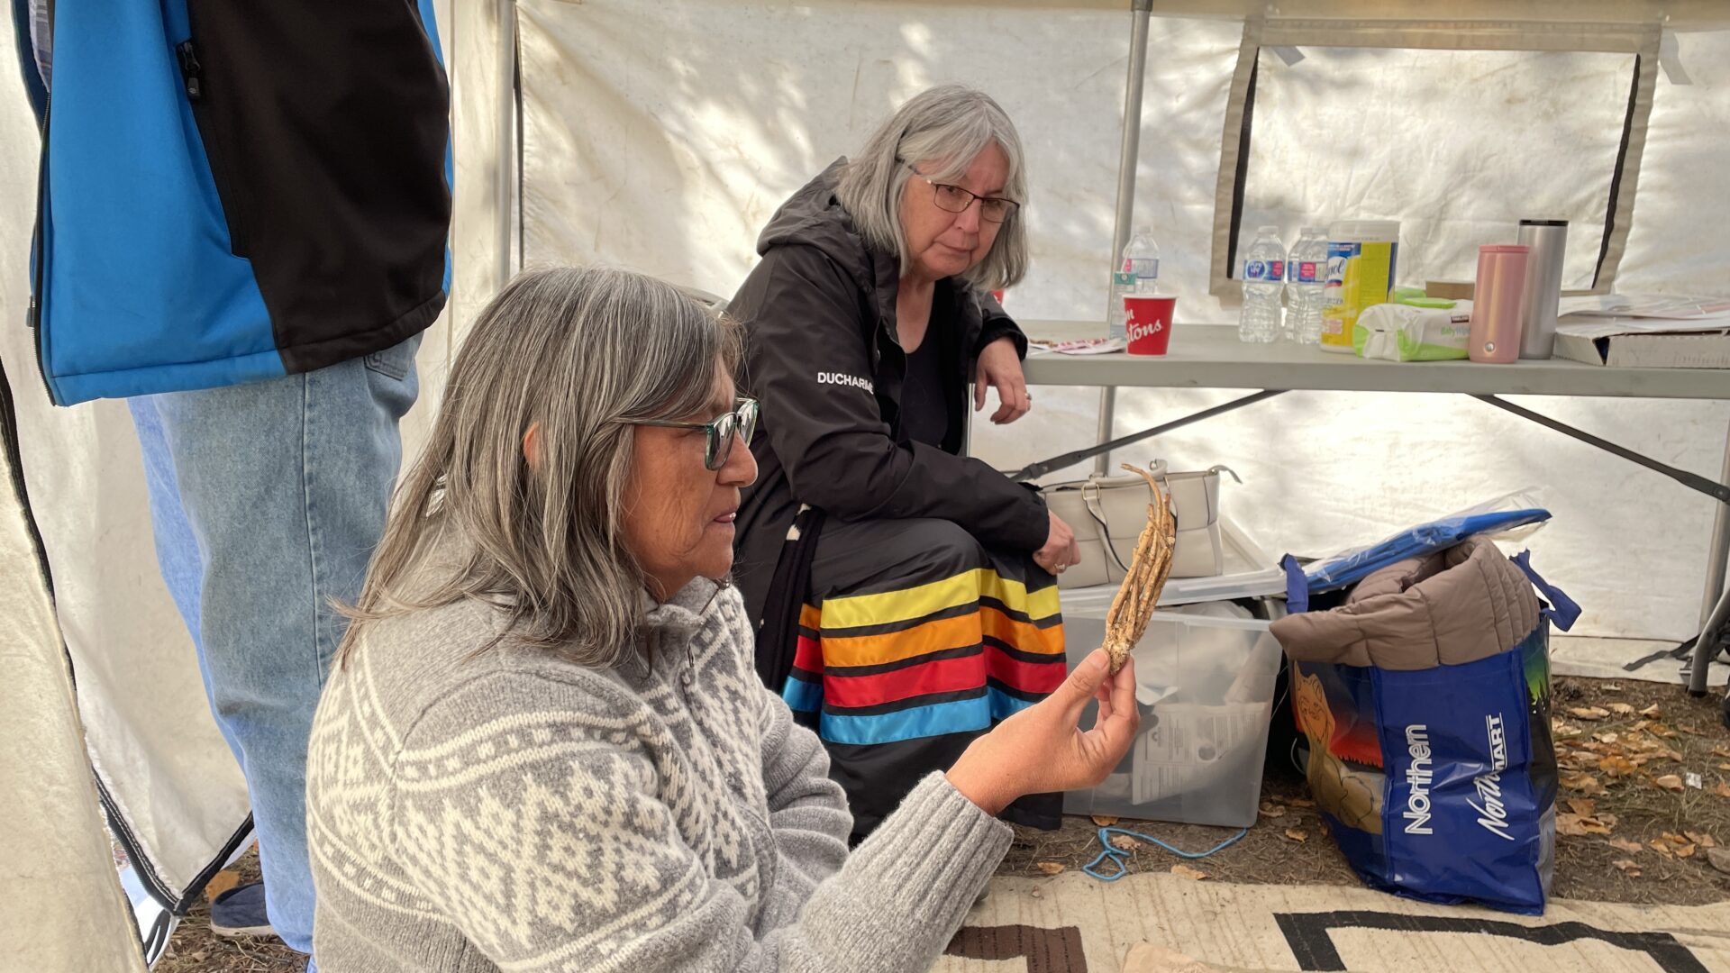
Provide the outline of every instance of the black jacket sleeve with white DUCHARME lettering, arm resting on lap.
[[1012,551],[1045,544],[1036,492],[977,459],[894,440],[858,291],[818,249],[770,249],[730,310],[747,322],[747,384],[799,502],[843,519],[941,518]]

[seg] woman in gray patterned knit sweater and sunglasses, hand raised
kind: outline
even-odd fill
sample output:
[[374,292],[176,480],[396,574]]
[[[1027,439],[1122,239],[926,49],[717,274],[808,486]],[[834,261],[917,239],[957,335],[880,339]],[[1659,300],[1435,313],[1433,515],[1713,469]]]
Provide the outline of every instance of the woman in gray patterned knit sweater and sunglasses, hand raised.
[[1009,847],[993,815],[1123,757],[1135,677],[1093,653],[849,854],[725,582],[737,357],[619,270],[526,274],[479,317],[313,727],[324,973],[926,970]]

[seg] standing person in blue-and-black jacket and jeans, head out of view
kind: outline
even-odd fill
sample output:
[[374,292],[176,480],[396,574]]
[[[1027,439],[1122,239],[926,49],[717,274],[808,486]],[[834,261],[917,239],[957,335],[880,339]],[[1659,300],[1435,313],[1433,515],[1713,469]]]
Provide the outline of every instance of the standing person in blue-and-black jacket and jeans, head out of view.
[[431,2],[14,14],[43,133],[42,377],[61,405],[130,398],[164,580],[253,803],[263,886],[211,926],[308,952],[330,604],[360,592],[448,282]]

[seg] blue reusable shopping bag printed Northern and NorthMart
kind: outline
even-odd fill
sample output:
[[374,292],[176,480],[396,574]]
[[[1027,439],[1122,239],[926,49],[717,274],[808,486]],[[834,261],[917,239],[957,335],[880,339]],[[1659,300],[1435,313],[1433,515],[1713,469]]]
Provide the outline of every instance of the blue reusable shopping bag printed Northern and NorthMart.
[[1548,606],[1505,653],[1398,672],[1292,663],[1311,789],[1372,888],[1543,912],[1557,793],[1550,623],[1567,630],[1579,606],[1545,583],[1528,554],[1514,563]]

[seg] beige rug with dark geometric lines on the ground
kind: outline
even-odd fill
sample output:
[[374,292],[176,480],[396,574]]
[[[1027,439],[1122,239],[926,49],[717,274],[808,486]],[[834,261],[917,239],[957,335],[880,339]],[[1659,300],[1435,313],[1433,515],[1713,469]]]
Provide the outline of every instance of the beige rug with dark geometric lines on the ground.
[[1730,902],[1541,918],[1363,888],[998,878],[932,973],[1730,973]]

